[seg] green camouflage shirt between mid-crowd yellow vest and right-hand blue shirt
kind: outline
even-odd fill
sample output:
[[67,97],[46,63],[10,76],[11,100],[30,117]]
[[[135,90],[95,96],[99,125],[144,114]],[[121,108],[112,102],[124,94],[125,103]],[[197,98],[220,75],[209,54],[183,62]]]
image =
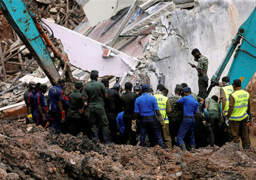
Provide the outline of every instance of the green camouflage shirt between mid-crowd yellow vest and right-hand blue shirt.
[[179,96],[172,96],[169,97],[168,100],[171,105],[171,113],[168,114],[169,117],[175,118],[175,117],[182,117],[183,116],[183,105],[182,104],[176,104],[175,101],[179,100]]

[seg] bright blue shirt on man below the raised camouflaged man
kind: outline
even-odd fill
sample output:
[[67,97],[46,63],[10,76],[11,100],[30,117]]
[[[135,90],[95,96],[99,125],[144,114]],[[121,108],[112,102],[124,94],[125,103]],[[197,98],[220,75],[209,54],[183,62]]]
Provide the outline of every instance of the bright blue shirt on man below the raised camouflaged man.
[[189,115],[193,116],[195,113],[197,113],[198,105],[199,103],[193,98],[192,95],[185,96],[179,100],[177,100],[177,103],[183,104],[183,115]]

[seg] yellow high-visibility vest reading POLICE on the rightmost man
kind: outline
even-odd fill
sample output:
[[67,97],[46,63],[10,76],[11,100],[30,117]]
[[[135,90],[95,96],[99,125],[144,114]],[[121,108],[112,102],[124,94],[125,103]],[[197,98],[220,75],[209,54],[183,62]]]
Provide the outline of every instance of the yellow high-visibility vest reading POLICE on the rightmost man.
[[242,121],[242,119],[248,116],[248,101],[249,93],[244,90],[234,91],[231,96],[234,97],[234,109],[229,119],[233,121]]

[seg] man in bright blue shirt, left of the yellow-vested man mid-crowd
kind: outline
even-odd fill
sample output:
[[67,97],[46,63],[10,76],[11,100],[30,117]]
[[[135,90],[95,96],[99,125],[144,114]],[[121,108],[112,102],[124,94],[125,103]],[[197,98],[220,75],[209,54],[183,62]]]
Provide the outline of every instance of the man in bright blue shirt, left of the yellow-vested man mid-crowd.
[[162,114],[159,111],[158,102],[156,101],[156,98],[154,96],[148,95],[148,91],[149,85],[142,84],[142,95],[135,100],[134,120],[137,119],[139,115],[141,115],[141,119],[139,121],[139,125],[141,127],[139,140],[141,143],[139,145],[145,146],[146,134],[148,133],[148,130],[150,128],[160,147],[165,149],[166,145],[164,145],[159,123],[155,117],[155,114],[157,114],[158,117],[162,119],[161,121],[163,121],[163,123],[164,120],[162,118]]

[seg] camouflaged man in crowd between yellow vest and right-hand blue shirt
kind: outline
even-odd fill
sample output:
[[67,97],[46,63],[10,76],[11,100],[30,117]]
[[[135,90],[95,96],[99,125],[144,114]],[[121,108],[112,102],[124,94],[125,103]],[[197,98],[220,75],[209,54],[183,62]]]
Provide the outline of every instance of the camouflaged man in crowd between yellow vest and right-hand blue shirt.
[[175,96],[168,98],[172,109],[171,113],[167,114],[169,119],[169,132],[172,140],[172,147],[174,147],[175,137],[177,136],[181,122],[183,120],[183,105],[175,103],[176,100],[181,98],[180,96],[182,90],[182,85],[177,84],[174,90]]

